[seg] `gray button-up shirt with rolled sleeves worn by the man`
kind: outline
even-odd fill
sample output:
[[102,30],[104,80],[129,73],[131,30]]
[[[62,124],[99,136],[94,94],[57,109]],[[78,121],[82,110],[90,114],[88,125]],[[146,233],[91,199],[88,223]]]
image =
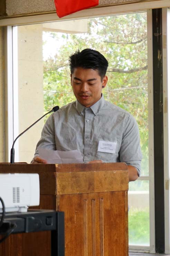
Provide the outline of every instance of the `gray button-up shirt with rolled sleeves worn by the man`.
[[[114,142],[114,153],[100,152],[100,140]],[[79,150],[84,162],[125,162],[137,168],[140,175],[142,159],[139,129],[130,113],[104,100],[89,108],[78,101],[51,114],[47,119],[36,147],[50,150]]]

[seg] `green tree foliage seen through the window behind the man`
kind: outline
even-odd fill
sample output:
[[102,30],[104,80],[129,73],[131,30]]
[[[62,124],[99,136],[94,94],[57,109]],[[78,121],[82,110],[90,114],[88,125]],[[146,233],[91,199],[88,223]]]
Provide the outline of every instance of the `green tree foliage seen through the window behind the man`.
[[[69,22],[69,21],[68,21]],[[85,19],[86,33],[48,33],[59,48],[44,61],[45,111],[75,100],[68,58],[77,49],[92,48],[108,60],[106,100],[129,111],[137,120],[143,153],[142,174],[148,175],[147,14]]]

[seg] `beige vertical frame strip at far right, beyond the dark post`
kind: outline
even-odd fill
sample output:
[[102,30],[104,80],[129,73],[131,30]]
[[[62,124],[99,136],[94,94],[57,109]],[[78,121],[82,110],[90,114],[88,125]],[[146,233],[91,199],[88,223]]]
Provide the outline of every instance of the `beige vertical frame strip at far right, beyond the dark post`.
[[162,9],[165,253],[170,254],[170,9]]

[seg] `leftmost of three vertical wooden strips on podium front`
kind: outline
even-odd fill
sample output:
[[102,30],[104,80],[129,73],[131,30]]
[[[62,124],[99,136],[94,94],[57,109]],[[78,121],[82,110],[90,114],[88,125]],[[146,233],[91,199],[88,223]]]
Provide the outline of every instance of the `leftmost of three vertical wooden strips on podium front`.
[[88,256],[87,248],[87,200],[83,200],[83,232],[84,232],[84,256]]

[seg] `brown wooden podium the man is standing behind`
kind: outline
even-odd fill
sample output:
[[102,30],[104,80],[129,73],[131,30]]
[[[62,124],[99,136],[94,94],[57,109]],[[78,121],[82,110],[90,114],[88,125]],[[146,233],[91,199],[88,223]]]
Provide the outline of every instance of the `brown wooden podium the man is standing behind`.
[[[10,172],[39,174],[40,205],[32,208],[65,212],[65,256],[129,255],[125,163],[0,164]],[[50,256],[49,232],[12,234],[0,255]]]

